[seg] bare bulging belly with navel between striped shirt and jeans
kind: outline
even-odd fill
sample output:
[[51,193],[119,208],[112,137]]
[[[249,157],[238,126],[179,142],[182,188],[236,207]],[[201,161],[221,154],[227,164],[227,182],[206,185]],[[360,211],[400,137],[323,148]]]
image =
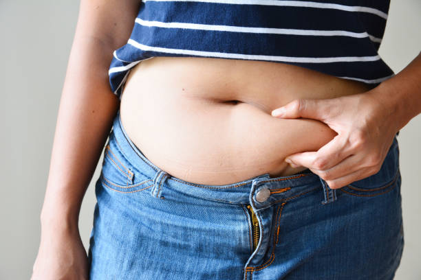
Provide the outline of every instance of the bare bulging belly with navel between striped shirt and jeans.
[[277,62],[155,57],[131,69],[120,116],[131,141],[171,176],[225,185],[301,172],[306,167],[292,168],[285,157],[336,136],[321,121],[272,117],[274,108],[369,89]]

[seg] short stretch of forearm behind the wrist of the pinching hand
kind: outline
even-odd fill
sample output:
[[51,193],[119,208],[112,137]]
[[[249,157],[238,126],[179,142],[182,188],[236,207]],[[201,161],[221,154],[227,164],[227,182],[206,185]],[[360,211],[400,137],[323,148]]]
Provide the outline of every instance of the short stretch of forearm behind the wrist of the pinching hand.
[[393,78],[382,82],[371,94],[389,110],[396,131],[421,113],[421,52]]

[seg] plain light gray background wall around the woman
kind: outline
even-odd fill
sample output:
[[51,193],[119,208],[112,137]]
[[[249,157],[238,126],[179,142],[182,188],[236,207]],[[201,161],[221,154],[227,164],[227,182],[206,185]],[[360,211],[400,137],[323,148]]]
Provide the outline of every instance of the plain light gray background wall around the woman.
[[[76,21],[78,1],[0,0],[0,279],[29,279],[40,240],[39,214]],[[392,0],[380,56],[398,73],[421,50],[421,1]],[[421,279],[421,115],[398,136],[405,248],[398,280]],[[80,211],[85,248],[94,182]]]

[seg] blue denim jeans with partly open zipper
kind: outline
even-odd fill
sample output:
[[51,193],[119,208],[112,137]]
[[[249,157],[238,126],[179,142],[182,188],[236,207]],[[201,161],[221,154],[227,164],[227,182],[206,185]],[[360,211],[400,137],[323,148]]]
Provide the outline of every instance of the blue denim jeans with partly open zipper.
[[[145,132],[147,133],[147,132]],[[399,148],[330,189],[310,170],[200,185],[109,135],[89,246],[91,279],[393,279],[404,246]]]

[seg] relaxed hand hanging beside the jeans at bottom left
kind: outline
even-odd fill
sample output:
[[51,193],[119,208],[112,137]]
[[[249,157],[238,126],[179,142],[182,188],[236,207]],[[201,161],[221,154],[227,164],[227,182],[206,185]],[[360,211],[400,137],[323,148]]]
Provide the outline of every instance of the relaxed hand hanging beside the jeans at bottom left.
[[31,280],[89,279],[88,259],[79,233],[50,231],[41,235]]

